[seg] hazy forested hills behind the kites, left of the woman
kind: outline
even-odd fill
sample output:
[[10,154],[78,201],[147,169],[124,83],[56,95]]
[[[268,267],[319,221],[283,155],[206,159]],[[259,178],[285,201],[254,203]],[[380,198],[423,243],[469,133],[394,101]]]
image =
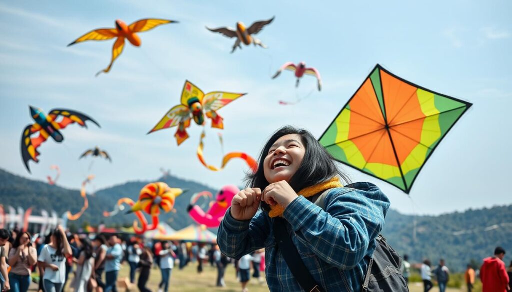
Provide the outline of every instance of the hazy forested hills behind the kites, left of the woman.
[[[168,222],[175,229],[184,228],[193,222],[186,214],[186,207],[191,195],[200,191],[210,191],[213,194],[217,192],[208,186],[170,175],[165,178],[161,177],[159,181],[172,187],[188,190],[176,199],[175,208],[177,213],[169,212],[160,216],[161,221]],[[140,189],[148,183],[150,182],[127,182],[97,191],[94,196],[89,196],[89,209],[78,220],[69,221],[68,225],[70,227],[81,227],[84,222],[93,226],[99,223],[106,223],[107,226],[131,225],[135,218],[133,214],[122,214],[121,212],[116,216],[105,218],[103,217],[103,211],[113,210],[117,200],[121,197],[137,200]],[[73,213],[78,212],[83,205],[83,200],[80,197],[79,190],[51,186],[0,169],[0,204],[19,206],[23,209],[32,207],[32,212],[35,215],[39,215],[42,209],[55,210],[60,216],[68,210]]]

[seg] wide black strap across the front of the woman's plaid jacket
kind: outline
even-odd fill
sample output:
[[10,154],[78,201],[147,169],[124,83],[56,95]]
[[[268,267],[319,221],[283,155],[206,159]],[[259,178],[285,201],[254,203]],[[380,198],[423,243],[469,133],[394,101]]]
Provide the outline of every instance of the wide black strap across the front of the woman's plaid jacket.
[[298,254],[297,248],[291,241],[291,237],[286,230],[284,219],[279,217],[274,218],[272,227],[281,254],[298,284],[300,284],[306,292],[323,292],[322,288],[309,273],[308,268],[302,261],[301,255]]

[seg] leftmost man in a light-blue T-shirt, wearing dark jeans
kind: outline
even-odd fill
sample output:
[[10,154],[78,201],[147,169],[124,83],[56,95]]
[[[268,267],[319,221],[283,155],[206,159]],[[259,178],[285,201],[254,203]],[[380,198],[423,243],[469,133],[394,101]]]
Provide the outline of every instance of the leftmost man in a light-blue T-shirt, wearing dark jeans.
[[117,275],[121,269],[123,249],[116,235],[111,235],[108,242],[109,249],[105,255],[105,292],[117,292]]

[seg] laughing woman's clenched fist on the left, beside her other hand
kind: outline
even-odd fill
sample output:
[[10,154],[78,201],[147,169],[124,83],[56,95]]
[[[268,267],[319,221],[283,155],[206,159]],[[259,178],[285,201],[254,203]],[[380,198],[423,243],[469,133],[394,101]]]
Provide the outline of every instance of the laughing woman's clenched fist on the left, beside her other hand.
[[250,220],[260,207],[261,189],[241,190],[231,200],[231,216],[239,221]]

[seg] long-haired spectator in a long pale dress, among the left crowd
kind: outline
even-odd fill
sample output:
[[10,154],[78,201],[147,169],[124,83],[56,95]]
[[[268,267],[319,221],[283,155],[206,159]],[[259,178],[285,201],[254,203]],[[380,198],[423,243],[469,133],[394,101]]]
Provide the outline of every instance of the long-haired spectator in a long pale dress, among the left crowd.
[[83,238],[81,242],[81,251],[76,262],[76,274],[73,280],[73,292],[88,292],[88,284],[93,275],[94,257],[93,246],[89,238]]

